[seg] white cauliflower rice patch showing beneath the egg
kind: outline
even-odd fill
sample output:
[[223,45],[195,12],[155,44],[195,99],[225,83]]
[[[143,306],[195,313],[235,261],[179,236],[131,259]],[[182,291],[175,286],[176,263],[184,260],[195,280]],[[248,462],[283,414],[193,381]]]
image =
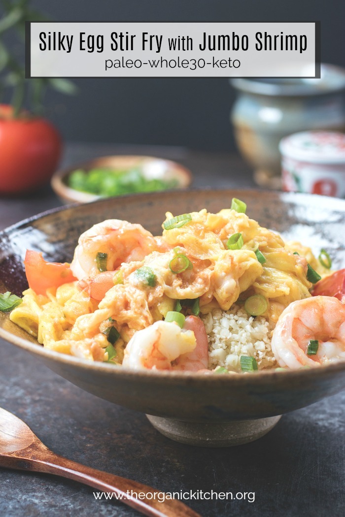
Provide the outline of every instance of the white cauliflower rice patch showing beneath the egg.
[[222,366],[241,372],[240,357],[257,360],[258,369],[276,366],[271,348],[274,325],[263,316],[250,316],[245,309],[233,305],[229,311],[214,309],[201,315],[208,338],[208,368]]

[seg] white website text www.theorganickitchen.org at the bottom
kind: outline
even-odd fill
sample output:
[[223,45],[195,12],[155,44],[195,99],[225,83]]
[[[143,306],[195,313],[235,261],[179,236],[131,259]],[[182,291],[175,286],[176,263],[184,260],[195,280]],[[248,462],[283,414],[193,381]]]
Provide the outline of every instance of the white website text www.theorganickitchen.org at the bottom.
[[189,490],[181,492],[136,492],[134,490],[128,490],[124,493],[116,492],[94,492],[94,497],[97,500],[101,499],[114,499],[121,501],[122,499],[136,498],[140,500],[158,500],[160,503],[164,503],[166,500],[178,499],[178,500],[245,500],[248,503],[253,503],[255,500],[255,492],[215,492],[211,490],[209,492],[203,490]]

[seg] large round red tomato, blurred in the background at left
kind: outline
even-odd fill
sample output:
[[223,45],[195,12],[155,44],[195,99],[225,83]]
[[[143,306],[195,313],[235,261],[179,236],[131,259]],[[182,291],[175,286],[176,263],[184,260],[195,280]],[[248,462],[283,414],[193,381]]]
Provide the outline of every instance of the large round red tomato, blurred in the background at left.
[[61,155],[61,138],[44,118],[12,118],[0,104],[0,192],[10,194],[40,187],[52,176]]

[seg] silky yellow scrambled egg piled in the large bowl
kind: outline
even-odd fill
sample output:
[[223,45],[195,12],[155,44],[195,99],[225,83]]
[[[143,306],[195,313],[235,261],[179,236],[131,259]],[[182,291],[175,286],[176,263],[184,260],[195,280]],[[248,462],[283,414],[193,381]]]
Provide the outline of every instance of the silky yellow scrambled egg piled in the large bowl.
[[[170,220],[173,215],[167,212],[166,217]],[[99,273],[95,266],[97,239],[100,249],[107,246],[107,250],[114,253],[117,246],[116,260],[122,257],[115,285],[110,285],[99,301],[93,299],[87,290],[81,290],[77,281],[52,287],[47,296],[28,289],[23,293],[23,303],[11,312],[11,320],[36,336],[44,346],[99,361],[108,360],[107,332],[109,325],[113,325],[121,336],[115,344],[117,356],[114,361],[121,363],[123,349],[133,334],[162,320],[168,311],[173,310],[176,300],[198,298],[200,310],[205,314],[215,307],[229,310],[234,302],[241,303],[253,294],[260,294],[268,302],[263,316],[275,323],[292,301],[310,296],[312,284],[306,278],[305,257],[315,269],[320,269],[320,265],[309,248],[298,243],[286,245],[277,233],[235,210],[224,209],[218,214],[209,214],[203,209],[191,212],[190,217],[181,227],[163,229],[161,237],[153,237],[139,224],[124,222],[122,240],[120,243],[117,236],[117,244],[111,240],[109,232],[115,232],[118,224],[111,226],[108,221],[107,228],[111,227],[111,230],[107,233],[103,229],[102,238],[97,235],[92,241],[93,255],[87,255],[90,237],[86,249],[83,248],[82,235],[72,265],[77,260],[81,261],[84,254],[85,264],[92,264],[92,272],[87,273],[86,266],[81,267],[78,263],[75,270],[84,275],[79,280],[83,279],[87,284]],[[134,230],[140,232],[134,239],[134,261],[130,241],[124,242],[127,226],[131,227],[131,240]],[[103,234],[107,237],[106,244]],[[234,234],[242,235],[240,249],[227,247],[229,237]],[[145,239],[149,239],[149,246],[145,246]],[[145,249],[143,258],[140,250],[138,253],[139,246]],[[126,256],[121,255],[122,249],[128,253]],[[147,249],[154,251],[147,253]],[[265,257],[263,264],[257,258],[257,250]],[[296,250],[298,255],[294,254]],[[190,267],[181,272],[173,271],[170,265],[174,257],[181,255],[187,257]],[[138,270],[146,275],[148,271],[151,280],[143,281]],[[104,327],[104,322],[111,323]]]

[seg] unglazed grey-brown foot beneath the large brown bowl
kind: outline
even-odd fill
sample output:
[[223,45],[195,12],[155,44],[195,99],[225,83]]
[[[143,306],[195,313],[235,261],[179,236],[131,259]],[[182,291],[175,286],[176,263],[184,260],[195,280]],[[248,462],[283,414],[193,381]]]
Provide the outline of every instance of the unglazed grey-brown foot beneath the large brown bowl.
[[271,431],[281,415],[255,420],[198,422],[146,415],[160,433],[182,444],[199,447],[231,447],[261,438]]

